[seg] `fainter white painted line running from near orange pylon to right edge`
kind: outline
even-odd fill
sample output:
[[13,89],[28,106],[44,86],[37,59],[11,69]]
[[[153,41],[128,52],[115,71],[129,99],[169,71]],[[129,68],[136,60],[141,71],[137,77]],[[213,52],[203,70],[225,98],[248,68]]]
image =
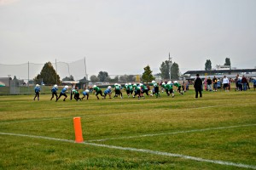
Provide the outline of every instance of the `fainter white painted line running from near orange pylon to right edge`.
[[126,136],[126,137],[109,138],[109,139],[95,139],[95,140],[87,140],[87,142],[102,142],[102,141],[113,140],[113,139],[136,139],[136,138],[161,136],[161,135],[168,135],[168,134],[196,133],[196,132],[204,132],[204,131],[211,131],[211,130],[221,130],[221,129],[228,129],[228,128],[236,128],[236,127],[253,127],[253,126],[256,126],[256,124],[237,125],[237,126],[230,126],[230,127],[213,127],[213,128],[203,128],[203,129],[193,129],[193,130],[187,130],[187,131],[177,131],[177,132],[173,132],[173,133],[152,133],[152,134],[143,134],[143,135],[137,135],[137,136]]

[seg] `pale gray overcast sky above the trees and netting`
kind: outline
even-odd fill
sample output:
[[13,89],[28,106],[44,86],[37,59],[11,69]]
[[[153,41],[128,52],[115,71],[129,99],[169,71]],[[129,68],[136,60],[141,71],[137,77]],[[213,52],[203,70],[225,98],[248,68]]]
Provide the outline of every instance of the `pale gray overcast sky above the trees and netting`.
[[[0,63],[86,57],[89,76],[256,66],[255,0],[0,0]],[[41,69],[41,68],[40,68]],[[77,68],[79,70],[79,68]]]

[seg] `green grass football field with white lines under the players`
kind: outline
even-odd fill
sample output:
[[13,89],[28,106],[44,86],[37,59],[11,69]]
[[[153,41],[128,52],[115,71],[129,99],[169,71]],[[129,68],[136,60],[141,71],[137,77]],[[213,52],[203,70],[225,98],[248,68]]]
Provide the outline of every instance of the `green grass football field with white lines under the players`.
[[0,96],[0,169],[256,169],[253,89],[204,92],[202,99],[194,90],[173,99],[124,96]]

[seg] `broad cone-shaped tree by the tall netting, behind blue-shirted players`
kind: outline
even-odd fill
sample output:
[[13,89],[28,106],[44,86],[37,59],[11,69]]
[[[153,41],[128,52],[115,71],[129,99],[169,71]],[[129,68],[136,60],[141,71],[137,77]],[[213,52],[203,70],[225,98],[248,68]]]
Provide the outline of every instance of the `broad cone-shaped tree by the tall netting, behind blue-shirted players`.
[[60,84],[61,79],[60,76],[57,75],[53,65],[50,62],[47,62],[44,64],[44,67],[40,74],[38,74],[37,77],[34,78],[34,82],[37,84],[41,84],[41,82],[44,82],[44,84]]

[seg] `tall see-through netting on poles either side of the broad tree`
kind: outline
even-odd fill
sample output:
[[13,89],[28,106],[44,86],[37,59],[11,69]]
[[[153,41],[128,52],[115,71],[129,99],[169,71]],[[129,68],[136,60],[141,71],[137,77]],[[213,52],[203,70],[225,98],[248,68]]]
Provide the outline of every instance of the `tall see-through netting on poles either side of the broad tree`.
[[[45,64],[45,63],[44,63]],[[35,64],[27,62],[20,65],[3,65],[0,64],[0,94],[32,94],[34,82],[33,79],[40,74],[44,64]],[[63,79],[64,77],[73,76],[78,81],[88,75],[85,74],[85,60],[79,59],[71,63],[51,62],[57,74]],[[44,92],[42,87],[42,91]],[[50,91],[45,90],[45,91]]]

